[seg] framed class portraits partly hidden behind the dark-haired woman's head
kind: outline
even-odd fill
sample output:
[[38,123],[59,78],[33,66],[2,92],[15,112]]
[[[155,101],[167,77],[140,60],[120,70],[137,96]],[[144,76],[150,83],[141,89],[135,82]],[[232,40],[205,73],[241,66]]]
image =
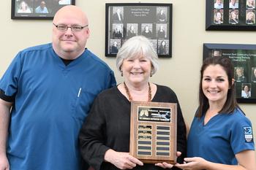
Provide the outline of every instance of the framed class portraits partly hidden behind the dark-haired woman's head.
[[256,45],[203,44],[203,59],[219,55],[233,62],[237,101],[256,103]]

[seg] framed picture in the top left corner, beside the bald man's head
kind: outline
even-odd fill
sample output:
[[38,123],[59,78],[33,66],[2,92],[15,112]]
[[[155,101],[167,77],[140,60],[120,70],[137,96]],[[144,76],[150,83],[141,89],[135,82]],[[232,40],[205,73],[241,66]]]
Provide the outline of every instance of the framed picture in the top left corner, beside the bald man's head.
[[75,0],[12,0],[14,20],[52,20],[65,5],[75,5]]

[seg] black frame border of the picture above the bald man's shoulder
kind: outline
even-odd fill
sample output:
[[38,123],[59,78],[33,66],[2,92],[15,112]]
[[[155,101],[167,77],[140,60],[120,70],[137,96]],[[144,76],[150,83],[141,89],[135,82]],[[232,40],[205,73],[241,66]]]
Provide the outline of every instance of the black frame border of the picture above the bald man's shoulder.
[[[64,7],[66,5],[69,5],[69,4],[60,5],[59,9],[61,9],[61,7]],[[75,0],[71,0],[71,5],[75,5]],[[36,15],[33,12],[33,13],[29,13],[27,16],[25,16],[25,15],[18,16],[18,15],[16,15],[17,12],[15,12],[15,7],[16,7],[16,0],[12,0],[12,6],[11,6],[11,19],[12,20],[53,20],[53,17],[56,13],[55,12],[52,15]]]

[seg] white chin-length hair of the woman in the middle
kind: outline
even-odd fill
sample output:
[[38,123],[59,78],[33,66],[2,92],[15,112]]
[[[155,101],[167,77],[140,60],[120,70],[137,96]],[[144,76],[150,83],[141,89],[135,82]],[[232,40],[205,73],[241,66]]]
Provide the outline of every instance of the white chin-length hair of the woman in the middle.
[[159,68],[158,55],[151,42],[145,36],[133,36],[122,45],[116,55],[116,67],[121,72],[121,65],[127,58],[138,58],[144,56],[151,61],[151,75]]

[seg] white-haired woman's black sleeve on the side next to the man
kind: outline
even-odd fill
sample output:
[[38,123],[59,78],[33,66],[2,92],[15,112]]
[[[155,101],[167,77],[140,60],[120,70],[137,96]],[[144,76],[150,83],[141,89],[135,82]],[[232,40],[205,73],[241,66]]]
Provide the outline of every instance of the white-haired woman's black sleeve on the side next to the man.
[[98,96],[79,134],[81,155],[96,170],[100,169],[105,152],[110,149],[103,144],[105,140],[104,108],[104,99]]

